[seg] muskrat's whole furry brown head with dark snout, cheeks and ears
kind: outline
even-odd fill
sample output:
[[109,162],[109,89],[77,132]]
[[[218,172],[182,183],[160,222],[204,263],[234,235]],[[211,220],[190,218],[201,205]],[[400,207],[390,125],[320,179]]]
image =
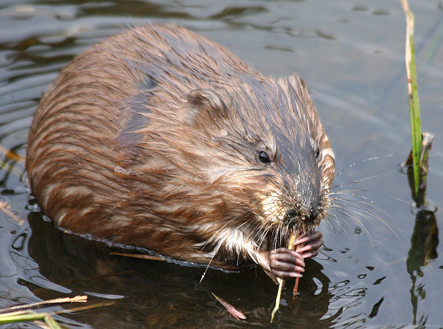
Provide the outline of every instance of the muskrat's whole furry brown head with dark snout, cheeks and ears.
[[150,124],[138,131],[144,162],[133,169],[152,180],[146,195],[161,199],[149,205],[156,215],[214,234],[235,227],[274,246],[325,217],[333,153],[298,76],[246,76],[190,91],[180,105],[152,93],[165,108],[176,106],[144,113]]

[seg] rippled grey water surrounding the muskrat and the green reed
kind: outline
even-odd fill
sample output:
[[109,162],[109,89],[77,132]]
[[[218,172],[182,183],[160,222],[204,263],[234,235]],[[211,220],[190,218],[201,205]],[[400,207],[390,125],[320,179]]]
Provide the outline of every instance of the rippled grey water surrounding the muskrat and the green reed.
[[[435,135],[428,198],[443,209],[443,3],[410,5],[422,126]],[[443,328],[442,211],[434,218],[411,213],[407,177],[398,170],[411,143],[400,2],[1,0],[2,147],[25,157],[32,114],[63,65],[104,36],[144,22],[175,22],[204,34],[265,74],[297,71],[316,102],[338,171],[357,163],[334,185],[363,180],[336,190],[361,190],[337,195],[363,215],[361,224],[336,211],[339,223],[331,217],[320,226],[324,248],[308,261],[295,305],[282,305],[269,325],[277,287],[260,269],[209,270],[199,284],[201,268],[109,255],[102,243],[45,221],[24,163],[1,152],[0,201],[25,222],[0,213],[0,307],[77,294],[91,303],[113,302],[57,316],[67,328]],[[362,162],[374,157],[380,159]],[[414,233],[416,219],[425,232],[423,222],[434,230],[427,249]],[[235,320],[211,292],[248,319]],[[289,290],[283,298],[290,300]]]

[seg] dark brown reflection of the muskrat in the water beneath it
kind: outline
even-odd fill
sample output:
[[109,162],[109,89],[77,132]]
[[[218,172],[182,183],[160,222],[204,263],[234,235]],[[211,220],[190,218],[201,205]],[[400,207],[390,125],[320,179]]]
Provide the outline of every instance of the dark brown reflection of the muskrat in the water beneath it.
[[[52,222],[45,222],[40,213],[31,213],[29,222],[29,253],[43,276],[72,291],[70,295],[89,295],[89,304],[114,300],[105,307],[67,315],[69,318],[97,329],[235,326],[237,320],[215,300],[213,292],[241,310],[248,317],[246,325],[269,323],[277,286],[260,268],[239,273],[208,270],[199,284],[204,268],[111,255],[115,248],[63,233]],[[300,295],[293,307],[281,307],[276,321],[287,326],[304,323],[329,328],[331,319],[320,321],[331,297],[329,279],[321,270],[320,264],[307,260]],[[42,299],[65,296],[63,290],[24,284]],[[292,285],[293,280],[288,280],[283,294],[289,302]]]

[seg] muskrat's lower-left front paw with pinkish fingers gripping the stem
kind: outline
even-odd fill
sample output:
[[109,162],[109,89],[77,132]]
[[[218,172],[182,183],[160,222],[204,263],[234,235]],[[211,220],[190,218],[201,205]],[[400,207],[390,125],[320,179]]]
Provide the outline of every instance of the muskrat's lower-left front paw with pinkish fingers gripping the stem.
[[271,273],[282,279],[301,277],[300,272],[305,271],[303,257],[287,248],[272,250],[269,253],[269,261]]

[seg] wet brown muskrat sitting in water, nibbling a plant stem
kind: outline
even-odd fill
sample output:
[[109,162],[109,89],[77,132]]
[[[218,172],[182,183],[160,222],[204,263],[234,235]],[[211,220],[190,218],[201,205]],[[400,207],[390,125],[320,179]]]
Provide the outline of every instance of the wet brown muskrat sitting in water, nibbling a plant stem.
[[132,28],[77,56],[41,99],[27,152],[38,203],[75,233],[282,278],[323,241],[334,155],[303,80],[264,77],[180,27]]

